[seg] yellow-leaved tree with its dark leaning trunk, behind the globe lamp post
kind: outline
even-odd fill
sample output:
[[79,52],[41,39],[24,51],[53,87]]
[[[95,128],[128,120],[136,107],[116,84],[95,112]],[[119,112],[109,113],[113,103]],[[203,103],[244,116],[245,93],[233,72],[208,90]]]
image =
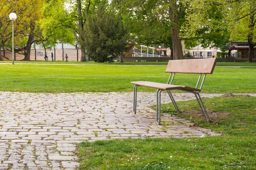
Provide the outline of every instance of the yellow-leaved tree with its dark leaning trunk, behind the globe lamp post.
[[[30,50],[32,43],[35,39],[35,33],[37,29],[37,22],[41,18],[41,10],[42,0],[14,0],[8,1],[5,3],[6,6],[9,6],[9,10],[7,10],[6,14],[9,14],[11,11],[17,14],[17,21],[15,20],[15,53],[23,54],[23,60],[30,60]],[[2,8],[3,9],[3,8]],[[7,18],[7,16],[6,16]],[[10,23],[9,21],[7,23]],[[11,26],[9,26],[8,31],[9,34],[12,31]],[[10,37],[7,37],[10,39]],[[9,41],[3,43],[5,48],[9,51],[12,49],[12,44]],[[21,47],[23,49],[21,49]]]

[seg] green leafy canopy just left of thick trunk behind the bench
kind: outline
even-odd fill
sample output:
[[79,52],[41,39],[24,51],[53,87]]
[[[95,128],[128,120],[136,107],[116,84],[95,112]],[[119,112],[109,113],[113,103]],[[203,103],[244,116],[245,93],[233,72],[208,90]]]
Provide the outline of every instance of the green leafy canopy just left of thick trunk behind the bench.
[[[129,25],[134,40],[143,45],[166,44],[172,46],[170,22],[160,18],[157,3],[113,0],[116,10],[121,11],[123,21]],[[135,7],[134,7],[135,6]]]

